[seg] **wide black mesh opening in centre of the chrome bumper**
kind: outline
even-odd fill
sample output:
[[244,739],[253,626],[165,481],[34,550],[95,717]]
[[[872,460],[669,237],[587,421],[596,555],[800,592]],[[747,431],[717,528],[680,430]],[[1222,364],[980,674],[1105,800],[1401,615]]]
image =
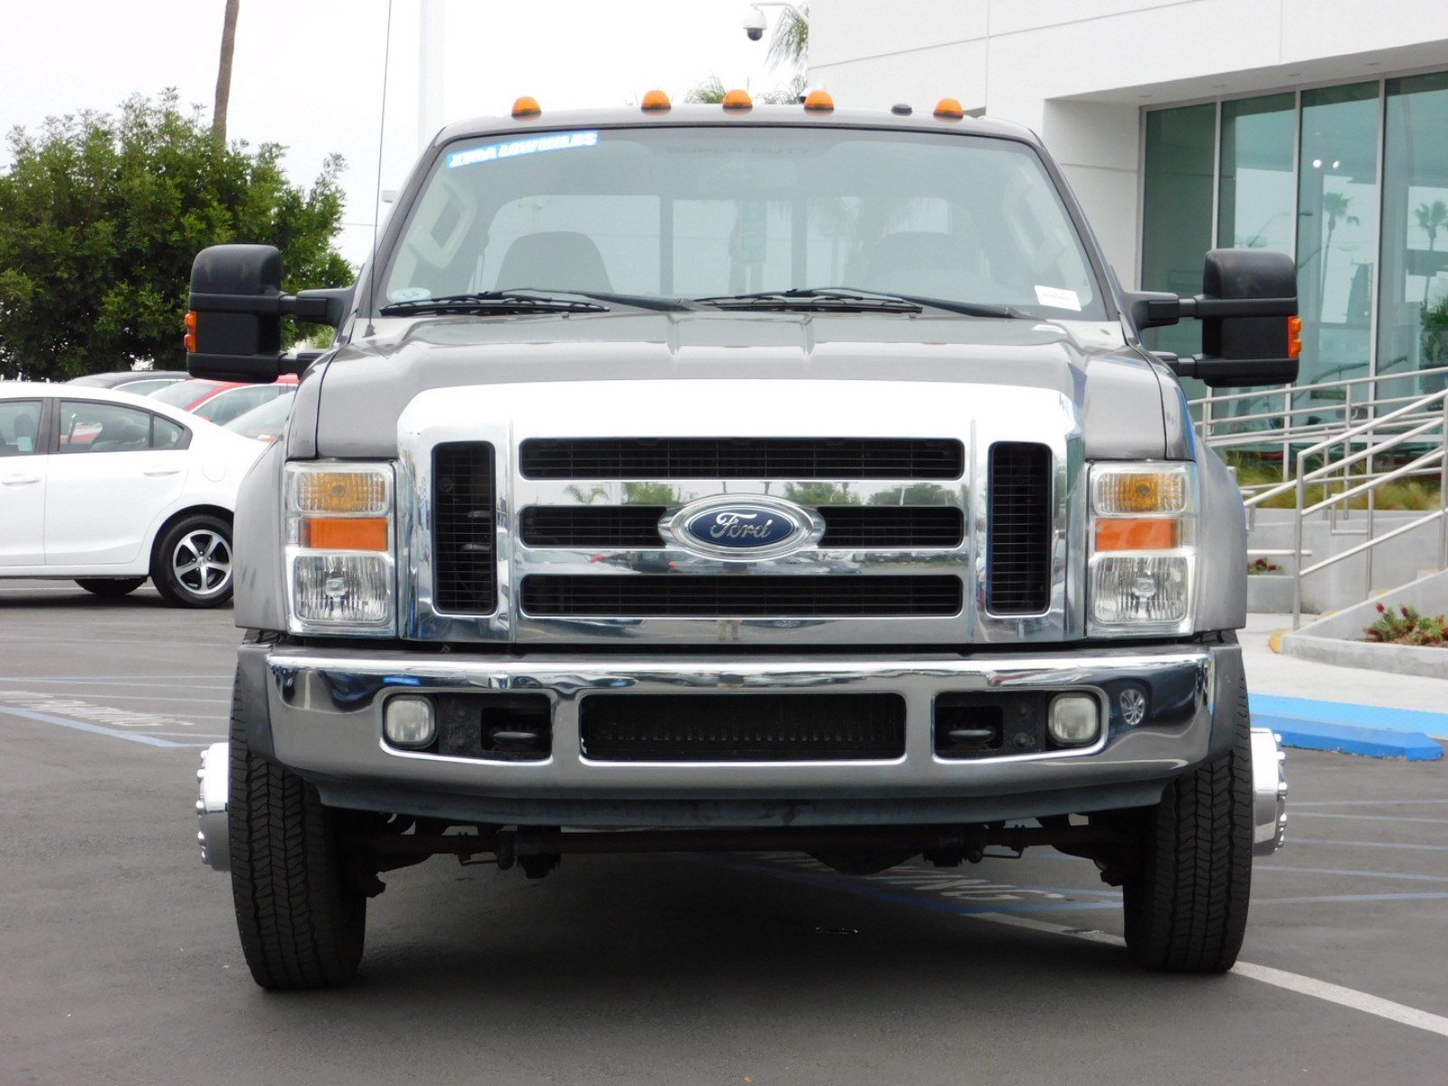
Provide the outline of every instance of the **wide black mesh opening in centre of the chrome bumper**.
[[579,705],[584,757],[598,762],[898,759],[898,694],[591,694]]

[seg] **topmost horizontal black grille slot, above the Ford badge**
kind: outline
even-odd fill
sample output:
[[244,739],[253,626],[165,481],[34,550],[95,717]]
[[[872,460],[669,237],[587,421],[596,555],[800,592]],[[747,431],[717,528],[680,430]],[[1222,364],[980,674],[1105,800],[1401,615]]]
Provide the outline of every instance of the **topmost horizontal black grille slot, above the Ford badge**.
[[959,479],[944,437],[533,437],[530,479]]

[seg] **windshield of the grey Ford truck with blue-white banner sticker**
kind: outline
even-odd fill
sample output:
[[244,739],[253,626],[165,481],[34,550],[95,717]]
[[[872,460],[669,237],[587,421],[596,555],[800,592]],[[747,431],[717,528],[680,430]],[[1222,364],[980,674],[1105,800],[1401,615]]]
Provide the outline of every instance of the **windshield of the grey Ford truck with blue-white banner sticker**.
[[[728,308],[918,313],[940,300],[977,307],[956,308],[963,319],[1105,317],[1080,236],[1028,145],[794,125],[458,140],[381,282],[378,307],[533,288]],[[921,304],[843,304],[828,294],[838,290]],[[782,291],[798,294],[737,297]],[[392,311],[404,308],[417,311]]]

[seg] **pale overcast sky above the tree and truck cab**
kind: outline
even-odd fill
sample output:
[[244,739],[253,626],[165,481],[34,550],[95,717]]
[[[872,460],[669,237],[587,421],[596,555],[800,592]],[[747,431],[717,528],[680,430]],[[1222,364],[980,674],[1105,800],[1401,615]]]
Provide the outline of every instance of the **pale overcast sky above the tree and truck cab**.
[[[531,94],[553,107],[617,106],[663,87],[675,98],[718,75],[769,90],[767,38],[741,29],[744,0],[436,0],[445,49],[443,122],[507,113]],[[392,0],[382,187],[397,188],[418,139],[420,0]],[[48,116],[113,110],[175,87],[210,117],[223,0],[45,0],[0,12],[0,130]],[[388,0],[242,0],[227,135],[288,148],[295,182],[330,152],[346,158],[353,262],[371,240]],[[770,13],[770,26],[778,17]],[[427,133],[432,135],[432,133]],[[10,161],[0,151],[0,168]]]

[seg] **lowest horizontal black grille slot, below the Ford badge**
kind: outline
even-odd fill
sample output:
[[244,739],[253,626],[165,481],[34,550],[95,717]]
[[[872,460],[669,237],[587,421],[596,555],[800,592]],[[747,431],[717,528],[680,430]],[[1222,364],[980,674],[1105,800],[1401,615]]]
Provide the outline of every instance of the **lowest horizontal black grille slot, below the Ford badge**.
[[849,618],[960,613],[959,576],[533,575],[537,618]]

